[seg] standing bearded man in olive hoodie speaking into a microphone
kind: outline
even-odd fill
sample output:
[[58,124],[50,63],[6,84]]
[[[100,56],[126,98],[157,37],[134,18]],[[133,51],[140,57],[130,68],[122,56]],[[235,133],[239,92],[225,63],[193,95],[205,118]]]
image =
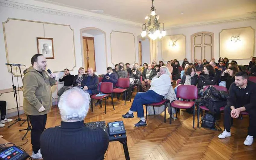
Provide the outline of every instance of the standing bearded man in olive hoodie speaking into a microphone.
[[42,159],[40,151],[40,136],[44,131],[47,113],[52,107],[51,86],[56,83],[56,76],[50,76],[45,72],[46,59],[42,54],[35,54],[31,58],[31,64],[24,70],[23,78],[23,109],[28,115],[32,125],[31,144],[32,158]]

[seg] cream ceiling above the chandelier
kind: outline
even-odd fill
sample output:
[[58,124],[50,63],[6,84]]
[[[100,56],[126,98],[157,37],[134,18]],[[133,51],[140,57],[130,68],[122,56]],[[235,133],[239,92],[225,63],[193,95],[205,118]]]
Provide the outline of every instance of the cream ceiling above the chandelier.
[[[151,0],[37,0],[143,23]],[[256,16],[256,0],[155,0],[165,26],[223,21]],[[183,14],[181,14],[183,12]]]

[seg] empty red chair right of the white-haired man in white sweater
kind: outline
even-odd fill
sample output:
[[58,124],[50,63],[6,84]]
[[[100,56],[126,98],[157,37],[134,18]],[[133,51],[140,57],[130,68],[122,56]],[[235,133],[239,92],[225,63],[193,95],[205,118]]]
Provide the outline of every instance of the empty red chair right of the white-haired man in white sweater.
[[[194,85],[179,85],[177,88],[177,98],[182,98],[183,100],[193,100],[193,101],[182,101],[182,100],[175,100],[172,101],[171,107],[176,109],[176,117],[177,115],[177,108],[180,109],[187,109],[193,107],[193,128],[195,127],[195,105],[196,100],[198,98],[197,87]],[[172,115],[172,109],[171,109]],[[170,124],[172,123],[172,118],[170,118]]]

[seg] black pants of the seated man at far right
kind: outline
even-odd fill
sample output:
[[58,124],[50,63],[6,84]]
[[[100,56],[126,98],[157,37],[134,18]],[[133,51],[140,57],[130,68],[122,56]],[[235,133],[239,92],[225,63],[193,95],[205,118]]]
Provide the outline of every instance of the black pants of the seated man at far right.
[[[238,107],[237,107],[238,108]],[[256,136],[256,109],[251,109],[247,111],[249,113],[249,127],[248,135]],[[231,127],[231,108],[229,106],[225,107],[224,110],[224,128],[229,131]]]

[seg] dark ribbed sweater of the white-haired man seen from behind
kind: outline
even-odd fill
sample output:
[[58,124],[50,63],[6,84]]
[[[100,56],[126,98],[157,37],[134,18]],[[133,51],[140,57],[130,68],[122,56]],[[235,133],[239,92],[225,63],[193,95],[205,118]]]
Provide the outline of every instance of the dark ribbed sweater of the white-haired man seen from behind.
[[84,121],[63,122],[44,130],[40,137],[44,160],[103,160],[108,134],[101,128],[90,129]]

